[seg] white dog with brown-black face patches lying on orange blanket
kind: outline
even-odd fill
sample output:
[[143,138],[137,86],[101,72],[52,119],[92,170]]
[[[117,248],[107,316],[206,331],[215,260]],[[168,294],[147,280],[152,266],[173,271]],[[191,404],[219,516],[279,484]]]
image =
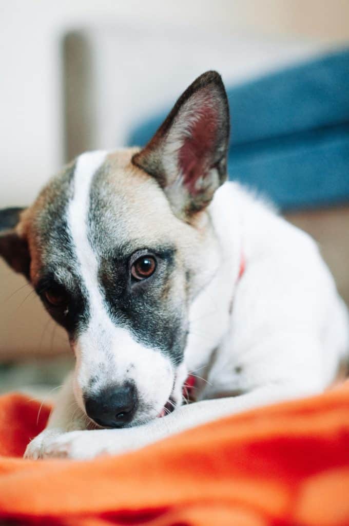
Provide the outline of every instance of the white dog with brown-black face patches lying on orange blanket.
[[76,358],[26,458],[142,448],[322,392],[347,361],[347,310],[315,242],[225,182],[229,132],[221,77],[204,73],[143,149],[80,155],[0,215],[0,254]]

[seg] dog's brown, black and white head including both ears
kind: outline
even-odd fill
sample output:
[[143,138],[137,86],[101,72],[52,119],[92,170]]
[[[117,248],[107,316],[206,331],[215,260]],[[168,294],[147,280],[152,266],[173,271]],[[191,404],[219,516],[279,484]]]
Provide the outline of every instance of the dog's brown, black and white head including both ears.
[[83,154],[31,207],[0,216],[0,254],[66,328],[77,402],[100,426],[181,401],[188,311],[217,268],[206,207],[228,140],[227,96],[208,72],[144,149]]

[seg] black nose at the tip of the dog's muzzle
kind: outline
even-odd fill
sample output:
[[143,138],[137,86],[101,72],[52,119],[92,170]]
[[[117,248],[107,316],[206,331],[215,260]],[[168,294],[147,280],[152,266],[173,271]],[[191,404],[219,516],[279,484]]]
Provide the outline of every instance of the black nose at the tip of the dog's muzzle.
[[96,396],[85,398],[86,413],[102,427],[126,426],[134,417],[136,404],[136,390],[132,385],[110,386]]

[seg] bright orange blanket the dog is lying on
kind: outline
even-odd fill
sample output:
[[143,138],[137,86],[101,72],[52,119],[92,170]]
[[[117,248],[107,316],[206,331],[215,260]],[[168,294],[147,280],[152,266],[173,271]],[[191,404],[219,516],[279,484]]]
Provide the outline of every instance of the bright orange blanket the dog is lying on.
[[38,409],[0,398],[0,524],[349,525],[348,383],[86,462],[20,458]]

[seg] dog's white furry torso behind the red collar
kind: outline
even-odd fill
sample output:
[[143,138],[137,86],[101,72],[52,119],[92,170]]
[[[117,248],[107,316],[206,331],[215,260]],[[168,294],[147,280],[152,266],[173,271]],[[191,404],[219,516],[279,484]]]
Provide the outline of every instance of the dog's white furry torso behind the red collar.
[[315,242],[237,184],[220,188],[211,208],[215,225],[232,221],[217,228],[223,246],[238,227],[246,270],[203,398],[273,384],[322,391],[348,351],[349,323]]

